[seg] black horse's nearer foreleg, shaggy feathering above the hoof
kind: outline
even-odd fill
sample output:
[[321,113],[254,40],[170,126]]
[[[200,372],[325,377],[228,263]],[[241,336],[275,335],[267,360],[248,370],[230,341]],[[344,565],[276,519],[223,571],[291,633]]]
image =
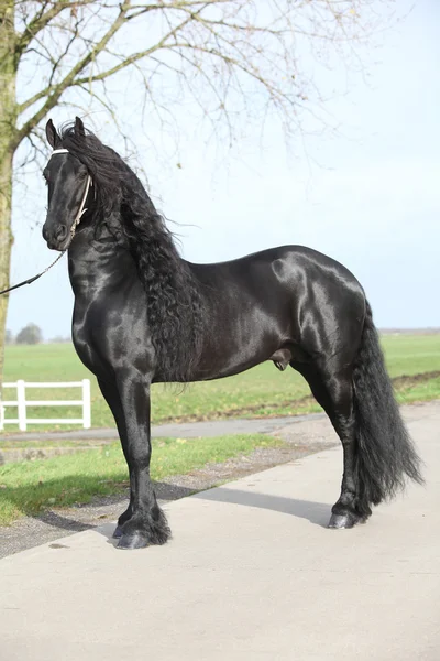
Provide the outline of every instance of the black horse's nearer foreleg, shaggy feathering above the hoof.
[[119,549],[164,544],[169,535],[165,514],[157,505],[150,478],[150,381],[140,372],[118,379],[125,437],[123,449],[130,472],[130,506],[120,519]]

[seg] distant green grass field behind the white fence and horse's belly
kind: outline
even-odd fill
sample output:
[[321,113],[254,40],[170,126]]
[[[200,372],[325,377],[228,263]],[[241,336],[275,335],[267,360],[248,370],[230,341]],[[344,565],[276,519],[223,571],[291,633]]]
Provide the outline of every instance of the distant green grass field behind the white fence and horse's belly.
[[[415,376],[440,371],[440,334],[438,335],[385,335],[383,346],[392,377]],[[69,344],[52,344],[7,347],[4,381],[76,381],[91,379],[94,427],[112,426],[111,413],[103,401],[96,379],[81,365]],[[440,397],[440,377],[398,380],[396,389],[400,402],[429,400]],[[3,399],[13,399],[14,391],[6,391]],[[195,383],[185,390],[170,386],[153,386],[153,422],[207,420],[224,416],[292,415],[319,410],[304,400],[309,395],[306,381],[297,372],[287,369],[279,372],[272,362],[261,365],[248,372],[218,381]],[[30,390],[31,399],[76,399],[79,390]],[[79,398],[80,399],[80,398]],[[15,416],[10,409],[7,416]],[[75,408],[29,408],[29,416],[51,418],[80,416]],[[30,427],[32,429],[32,427]],[[34,425],[43,430],[43,425]],[[54,429],[54,426],[47,426]],[[55,429],[77,429],[59,425]],[[16,431],[7,425],[6,432]]]

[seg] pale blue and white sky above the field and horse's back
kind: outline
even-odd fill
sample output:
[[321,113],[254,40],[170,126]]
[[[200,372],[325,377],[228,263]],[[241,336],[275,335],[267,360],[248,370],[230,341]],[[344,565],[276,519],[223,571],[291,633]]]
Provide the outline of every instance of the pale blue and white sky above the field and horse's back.
[[[255,128],[232,150],[207,147],[185,126],[179,153],[167,163],[145,148],[150,192],[182,224],[172,228],[184,257],[211,262],[277,245],[310,246],[352,270],[378,326],[440,326],[439,25],[440,3],[420,0],[381,47],[363,54],[366,84],[351,76],[348,94],[328,106],[338,136],[298,134],[287,151],[272,119],[263,142]],[[344,91],[344,68],[331,75]],[[53,112],[56,124],[72,119],[65,112]],[[106,131],[102,122],[103,142]],[[163,137],[150,136],[153,143],[155,137],[160,144]],[[25,204],[15,196],[12,282],[55,257],[36,226],[45,195],[37,176]],[[34,322],[46,338],[67,336],[72,308],[63,258],[11,294],[8,328]]]

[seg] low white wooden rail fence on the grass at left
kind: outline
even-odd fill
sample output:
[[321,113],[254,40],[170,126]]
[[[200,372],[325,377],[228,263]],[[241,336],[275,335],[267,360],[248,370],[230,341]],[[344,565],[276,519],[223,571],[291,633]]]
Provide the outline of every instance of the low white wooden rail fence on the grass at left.
[[[90,429],[90,381],[67,381],[58,383],[31,383],[16,381],[16,383],[3,383],[3,394],[7,388],[16,389],[16,400],[0,400],[0,430],[6,424],[19,424],[21,432],[25,432],[28,424],[81,424],[85,430]],[[81,388],[82,399],[80,400],[26,400],[28,388]],[[6,409],[15,407],[18,418],[7,418]],[[82,418],[28,418],[28,407],[81,407]]]

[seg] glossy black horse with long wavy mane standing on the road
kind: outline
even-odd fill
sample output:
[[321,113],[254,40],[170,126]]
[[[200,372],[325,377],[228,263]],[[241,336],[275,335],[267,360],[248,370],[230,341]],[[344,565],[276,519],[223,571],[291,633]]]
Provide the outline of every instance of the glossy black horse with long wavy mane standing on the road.
[[406,476],[422,481],[370,305],[350,271],[300,246],[187,262],[138,176],[80,119],[61,133],[50,120],[46,134],[55,153],[44,170],[43,236],[54,250],[68,247],[74,344],[114,415],[130,472],[119,548],[163,544],[170,534],[150,478],[153,382],[218,379],[264,360],[299,371],[342,442],[331,528],[364,522]]

